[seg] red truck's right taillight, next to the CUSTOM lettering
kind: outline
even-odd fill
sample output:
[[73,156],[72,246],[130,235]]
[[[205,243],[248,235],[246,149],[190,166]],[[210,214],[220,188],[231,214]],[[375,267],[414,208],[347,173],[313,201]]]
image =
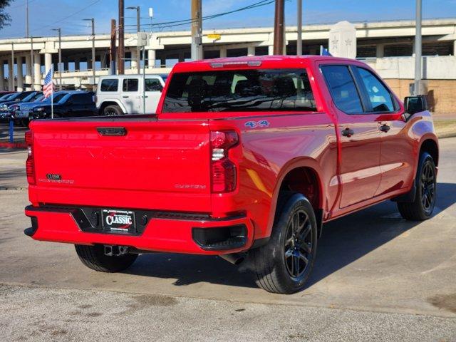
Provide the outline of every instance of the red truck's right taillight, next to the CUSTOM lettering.
[[210,139],[212,192],[232,192],[236,190],[237,168],[229,160],[228,151],[239,142],[237,133],[232,130],[212,131]]

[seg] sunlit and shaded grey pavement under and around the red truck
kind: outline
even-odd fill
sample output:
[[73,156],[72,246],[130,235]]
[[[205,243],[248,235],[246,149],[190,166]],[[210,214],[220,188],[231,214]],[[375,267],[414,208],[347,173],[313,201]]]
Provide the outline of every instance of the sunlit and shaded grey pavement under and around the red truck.
[[0,341],[456,341],[456,138],[435,217],[384,202],[326,224],[309,286],[257,289],[249,265],[142,255],[119,274],[24,236],[24,151],[0,150]]

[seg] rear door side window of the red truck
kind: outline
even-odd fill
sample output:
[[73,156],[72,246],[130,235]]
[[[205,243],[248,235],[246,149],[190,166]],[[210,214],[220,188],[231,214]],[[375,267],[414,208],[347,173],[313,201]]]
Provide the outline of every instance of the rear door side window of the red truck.
[[347,114],[363,113],[361,98],[348,66],[321,66],[321,71],[337,108]]

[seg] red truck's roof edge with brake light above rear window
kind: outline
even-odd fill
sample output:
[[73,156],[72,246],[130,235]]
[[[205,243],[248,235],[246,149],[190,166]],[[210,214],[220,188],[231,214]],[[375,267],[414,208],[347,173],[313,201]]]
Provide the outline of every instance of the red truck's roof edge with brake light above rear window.
[[[296,68],[306,66],[314,61],[343,61],[353,63],[353,59],[339,58],[333,56],[242,56],[242,57],[227,57],[227,58],[213,58],[203,59],[201,61],[181,62],[177,63],[173,68],[175,72],[189,72],[189,71],[202,71],[218,69],[214,68],[214,64],[228,63],[232,66],[225,66],[224,68],[239,68],[242,63],[259,62],[259,65],[252,65],[252,68]],[[248,67],[248,66],[247,66]],[[219,67],[220,68],[220,67]]]

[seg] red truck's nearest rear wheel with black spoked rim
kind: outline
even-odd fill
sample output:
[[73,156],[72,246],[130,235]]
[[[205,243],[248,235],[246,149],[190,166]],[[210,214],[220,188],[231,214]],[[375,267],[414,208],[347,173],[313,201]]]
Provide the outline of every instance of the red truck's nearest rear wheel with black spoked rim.
[[250,256],[259,287],[293,294],[304,289],[314,267],[317,226],[314,209],[304,195],[288,192],[281,197],[271,239]]

